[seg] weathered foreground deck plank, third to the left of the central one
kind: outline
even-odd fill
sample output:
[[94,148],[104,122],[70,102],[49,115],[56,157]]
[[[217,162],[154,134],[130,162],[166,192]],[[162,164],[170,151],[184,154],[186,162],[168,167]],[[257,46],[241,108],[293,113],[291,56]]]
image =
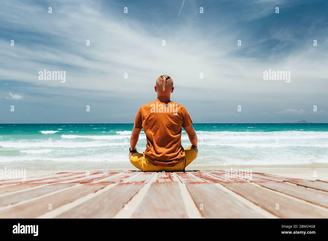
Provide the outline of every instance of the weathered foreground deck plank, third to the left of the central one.
[[13,193],[6,196],[0,197],[0,207],[21,202],[33,197],[44,195],[53,191],[57,191],[63,188],[73,186],[74,184],[51,184],[48,186],[40,186],[40,188],[35,188],[32,190],[22,191],[19,193]]

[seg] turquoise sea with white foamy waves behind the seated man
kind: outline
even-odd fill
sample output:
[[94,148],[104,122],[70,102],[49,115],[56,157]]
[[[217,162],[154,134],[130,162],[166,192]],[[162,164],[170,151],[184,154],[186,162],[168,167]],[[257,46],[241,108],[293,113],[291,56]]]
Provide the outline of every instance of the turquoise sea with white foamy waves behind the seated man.
[[[191,166],[328,168],[328,124],[193,124],[199,154]],[[0,124],[0,169],[133,168],[133,124]],[[190,145],[182,132],[182,145]],[[137,150],[144,151],[140,134]]]

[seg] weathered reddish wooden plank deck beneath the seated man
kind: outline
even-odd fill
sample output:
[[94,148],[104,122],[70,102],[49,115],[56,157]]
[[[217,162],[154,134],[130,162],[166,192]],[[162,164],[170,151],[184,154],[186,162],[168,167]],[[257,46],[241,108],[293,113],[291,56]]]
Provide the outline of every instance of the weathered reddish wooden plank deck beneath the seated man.
[[0,218],[328,218],[328,181],[94,171],[0,181]]

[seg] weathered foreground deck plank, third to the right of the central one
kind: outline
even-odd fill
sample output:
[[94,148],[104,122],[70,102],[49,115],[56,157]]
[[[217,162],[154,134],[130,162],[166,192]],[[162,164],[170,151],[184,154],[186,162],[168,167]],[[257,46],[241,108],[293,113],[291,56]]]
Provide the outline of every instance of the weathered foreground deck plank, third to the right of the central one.
[[258,182],[257,184],[328,208],[328,193],[283,182]]

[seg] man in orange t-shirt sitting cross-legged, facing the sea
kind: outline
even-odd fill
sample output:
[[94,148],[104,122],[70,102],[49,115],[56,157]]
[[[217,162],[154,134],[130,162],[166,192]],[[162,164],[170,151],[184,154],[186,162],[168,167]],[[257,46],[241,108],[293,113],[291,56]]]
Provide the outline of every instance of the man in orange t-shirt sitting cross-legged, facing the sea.
[[[156,80],[157,99],[141,106],[135,117],[130,139],[129,158],[141,171],[183,171],[197,156],[197,135],[187,110],[170,100],[173,80],[161,75]],[[181,146],[181,127],[187,132],[190,143]],[[139,153],[136,145],[144,129],[146,150]]]

